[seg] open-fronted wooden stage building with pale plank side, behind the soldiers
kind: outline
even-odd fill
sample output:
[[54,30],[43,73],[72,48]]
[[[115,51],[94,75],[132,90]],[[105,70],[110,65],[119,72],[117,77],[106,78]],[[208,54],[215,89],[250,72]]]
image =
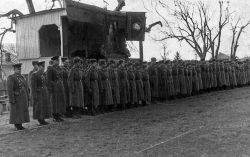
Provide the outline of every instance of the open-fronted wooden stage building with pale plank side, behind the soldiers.
[[110,11],[64,0],[63,8],[15,18],[17,56],[23,73],[32,61],[52,56],[126,58],[126,41],[143,41],[144,12]]

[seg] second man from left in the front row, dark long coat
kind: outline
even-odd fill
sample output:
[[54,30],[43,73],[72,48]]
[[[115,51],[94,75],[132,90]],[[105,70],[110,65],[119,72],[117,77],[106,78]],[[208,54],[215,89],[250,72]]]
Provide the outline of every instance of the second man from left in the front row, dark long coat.
[[52,106],[49,101],[49,94],[44,73],[45,61],[38,62],[39,70],[31,76],[31,89],[33,98],[33,118],[41,125],[47,125],[45,119],[51,118]]

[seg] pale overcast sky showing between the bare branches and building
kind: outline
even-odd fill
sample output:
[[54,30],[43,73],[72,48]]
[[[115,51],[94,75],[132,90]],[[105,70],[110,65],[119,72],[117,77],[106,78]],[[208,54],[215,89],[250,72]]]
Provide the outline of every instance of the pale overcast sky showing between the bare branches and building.
[[[46,9],[47,4],[45,3],[45,0],[33,0],[36,11],[44,10]],[[117,5],[117,0],[106,0],[109,5],[108,9],[113,10]],[[171,0],[162,0],[166,4],[169,2],[171,3]],[[193,0],[196,1],[196,0]],[[229,0],[230,1],[230,7],[231,10],[235,11],[235,16],[241,16],[242,21],[245,22],[248,19],[250,19],[250,1],[249,0]],[[103,0],[81,0],[83,3],[93,4],[99,7],[103,7],[105,3]],[[144,5],[143,5],[144,2]],[[218,6],[218,0],[210,0],[211,8],[216,8]],[[28,9],[26,6],[25,0],[0,0],[0,14],[8,12],[12,9],[18,9],[24,14],[28,13]],[[158,18],[158,16],[151,11],[151,4],[150,0],[126,0],[126,7],[123,8],[123,11],[145,11],[147,12],[147,24],[150,24],[152,22],[161,20]],[[216,13],[215,13],[216,14]],[[0,27],[8,27],[8,21],[7,20],[0,20]],[[152,37],[157,37],[159,28],[152,29],[150,34],[146,34],[146,39],[144,42],[144,59],[149,60],[151,57],[156,57],[158,59],[161,58],[161,53],[163,53],[163,46],[162,43],[154,42],[152,40]],[[225,54],[229,54],[230,50],[230,42],[231,42],[231,31],[229,28],[227,28],[224,32],[224,37],[222,39],[222,48],[221,52]],[[250,26],[246,29],[245,33],[242,35],[242,38],[240,40],[240,47],[238,49],[238,56],[239,57],[245,57],[250,56]],[[15,35],[14,34],[8,34],[4,40],[6,43],[14,43],[15,42]],[[172,53],[169,54],[169,58],[172,59],[174,56],[174,53],[176,51],[180,51],[181,56],[183,59],[195,59],[195,53],[192,49],[190,49],[186,44],[179,42],[175,40],[169,40],[166,42],[167,44],[167,51],[170,51]],[[138,45],[137,42],[135,42],[135,45]],[[138,57],[138,53],[132,53],[132,57]]]

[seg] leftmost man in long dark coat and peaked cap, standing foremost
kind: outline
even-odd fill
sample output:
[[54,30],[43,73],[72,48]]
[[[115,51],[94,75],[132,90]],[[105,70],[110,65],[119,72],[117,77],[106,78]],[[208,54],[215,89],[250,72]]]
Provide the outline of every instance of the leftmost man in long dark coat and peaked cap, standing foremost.
[[7,90],[10,102],[10,124],[17,130],[25,129],[22,124],[30,121],[28,110],[28,85],[21,75],[22,64],[15,64],[14,74],[7,78]]

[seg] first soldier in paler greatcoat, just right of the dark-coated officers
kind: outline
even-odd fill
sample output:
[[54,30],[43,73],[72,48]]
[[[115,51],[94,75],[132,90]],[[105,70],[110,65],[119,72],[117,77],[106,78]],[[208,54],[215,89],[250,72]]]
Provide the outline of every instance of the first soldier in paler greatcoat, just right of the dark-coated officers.
[[74,58],[74,65],[69,71],[69,103],[73,107],[74,114],[80,114],[84,108],[84,93],[82,85],[82,77],[80,74],[80,61],[79,57]]

